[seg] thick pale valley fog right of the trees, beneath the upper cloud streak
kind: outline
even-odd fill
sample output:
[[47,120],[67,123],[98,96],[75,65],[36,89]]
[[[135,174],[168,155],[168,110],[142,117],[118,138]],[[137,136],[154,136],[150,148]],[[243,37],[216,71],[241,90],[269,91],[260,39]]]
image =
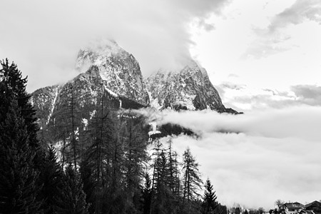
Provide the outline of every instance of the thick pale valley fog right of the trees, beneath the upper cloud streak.
[[278,198],[319,200],[321,158],[316,141],[208,133],[198,140],[180,136],[173,145],[180,154],[190,147],[221,203],[268,210]]

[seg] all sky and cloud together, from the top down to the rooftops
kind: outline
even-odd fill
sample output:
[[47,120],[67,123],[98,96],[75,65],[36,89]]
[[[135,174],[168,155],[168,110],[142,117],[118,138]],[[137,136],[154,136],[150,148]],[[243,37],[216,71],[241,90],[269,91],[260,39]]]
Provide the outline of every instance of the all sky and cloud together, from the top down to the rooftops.
[[321,199],[320,0],[11,0],[0,20],[0,58],[29,76],[29,92],[76,76],[78,50],[95,39],[115,39],[143,76],[195,58],[225,106],[245,112],[170,117],[202,128],[175,146],[190,146],[218,200]]

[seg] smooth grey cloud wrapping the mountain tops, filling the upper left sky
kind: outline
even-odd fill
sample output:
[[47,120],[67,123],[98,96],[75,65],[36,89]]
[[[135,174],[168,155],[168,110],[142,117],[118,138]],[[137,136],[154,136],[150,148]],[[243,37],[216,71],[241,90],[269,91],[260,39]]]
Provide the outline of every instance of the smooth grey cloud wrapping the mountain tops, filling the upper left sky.
[[[141,64],[144,75],[190,58],[189,27],[220,14],[228,0],[6,1],[1,4],[0,57],[29,76],[30,91],[66,81],[91,39],[115,39]],[[205,26],[207,26],[205,24]],[[208,26],[207,26],[208,27]],[[41,81],[39,81],[41,79]]]

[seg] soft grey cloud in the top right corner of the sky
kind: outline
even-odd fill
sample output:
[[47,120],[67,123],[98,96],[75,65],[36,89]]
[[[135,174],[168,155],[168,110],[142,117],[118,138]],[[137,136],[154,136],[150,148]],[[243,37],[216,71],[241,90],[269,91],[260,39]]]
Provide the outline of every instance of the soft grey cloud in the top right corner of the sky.
[[257,38],[250,44],[243,57],[261,58],[279,54],[295,48],[292,35],[287,34],[287,26],[315,21],[321,24],[321,2],[318,0],[297,0],[270,20],[266,27],[253,26]]

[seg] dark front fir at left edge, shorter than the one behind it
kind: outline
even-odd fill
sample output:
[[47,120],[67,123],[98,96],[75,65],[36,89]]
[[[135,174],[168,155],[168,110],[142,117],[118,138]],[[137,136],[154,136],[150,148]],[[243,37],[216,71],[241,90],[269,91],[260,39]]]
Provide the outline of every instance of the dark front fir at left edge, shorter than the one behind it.
[[[1,114],[2,115],[2,114]],[[37,200],[39,176],[34,169],[35,151],[21,108],[10,103],[4,121],[0,123],[0,210],[1,213],[40,213]]]

